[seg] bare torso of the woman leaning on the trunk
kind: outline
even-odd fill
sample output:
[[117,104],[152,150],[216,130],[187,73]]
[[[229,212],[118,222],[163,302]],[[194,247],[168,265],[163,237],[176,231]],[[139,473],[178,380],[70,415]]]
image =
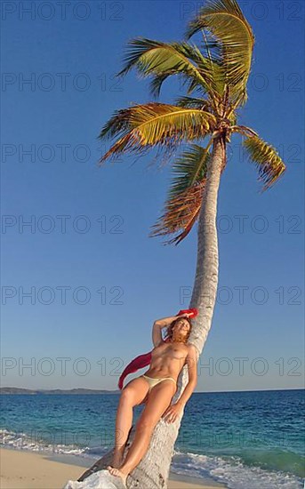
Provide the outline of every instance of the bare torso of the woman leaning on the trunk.
[[149,377],[173,377],[177,381],[181,368],[188,357],[188,346],[184,343],[165,343],[151,351]]

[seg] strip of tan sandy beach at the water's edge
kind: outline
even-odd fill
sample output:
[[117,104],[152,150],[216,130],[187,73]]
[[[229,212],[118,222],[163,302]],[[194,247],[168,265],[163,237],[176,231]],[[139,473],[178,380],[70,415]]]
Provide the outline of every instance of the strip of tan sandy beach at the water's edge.
[[[56,460],[54,460],[54,458]],[[67,457],[52,457],[40,453],[21,452],[13,449],[0,449],[1,489],[62,489],[68,480],[76,480],[87,466],[68,463]],[[63,462],[65,460],[65,462]],[[70,457],[72,460],[72,457]],[[171,474],[169,489],[215,489],[223,487],[213,483],[197,484],[193,478],[178,477]]]

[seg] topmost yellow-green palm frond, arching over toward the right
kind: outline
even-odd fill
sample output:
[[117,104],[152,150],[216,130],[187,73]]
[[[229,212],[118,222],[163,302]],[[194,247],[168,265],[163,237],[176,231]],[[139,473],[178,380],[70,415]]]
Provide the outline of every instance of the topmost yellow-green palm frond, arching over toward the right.
[[236,0],[207,0],[189,22],[186,37],[207,28],[221,44],[221,63],[230,97],[241,105],[247,99],[254,35]]

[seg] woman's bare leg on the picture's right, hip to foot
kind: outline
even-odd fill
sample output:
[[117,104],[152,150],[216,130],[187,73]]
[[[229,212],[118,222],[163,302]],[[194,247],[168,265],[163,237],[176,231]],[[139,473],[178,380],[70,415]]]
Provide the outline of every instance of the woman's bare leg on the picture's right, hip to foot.
[[109,472],[114,476],[121,477],[124,484],[128,474],[132,472],[148,451],[151,435],[162,414],[165,413],[166,408],[171,404],[175,389],[173,389],[173,382],[171,381],[160,382],[151,389],[147,405],[137,422],[135,436],[124,463],[115,469],[108,466]]

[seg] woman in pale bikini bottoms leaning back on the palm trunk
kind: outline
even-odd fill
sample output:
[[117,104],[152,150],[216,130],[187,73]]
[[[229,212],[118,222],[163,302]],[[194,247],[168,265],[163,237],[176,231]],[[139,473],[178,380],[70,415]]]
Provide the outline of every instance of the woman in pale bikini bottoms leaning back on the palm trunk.
[[[176,421],[197,385],[197,357],[195,346],[188,343],[191,332],[190,314],[164,317],[155,321],[152,330],[154,349],[148,371],[133,379],[122,390],[116,413],[116,442],[112,465],[108,471],[121,477],[123,484],[148,450],[149,441],[161,417]],[[162,338],[167,327],[168,342]],[[171,405],[177,390],[177,379],[183,365],[189,368],[189,382],[180,399]],[[135,436],[123,462],[124,448],[132,427],[132,408],[145,403],[136,424]]]

